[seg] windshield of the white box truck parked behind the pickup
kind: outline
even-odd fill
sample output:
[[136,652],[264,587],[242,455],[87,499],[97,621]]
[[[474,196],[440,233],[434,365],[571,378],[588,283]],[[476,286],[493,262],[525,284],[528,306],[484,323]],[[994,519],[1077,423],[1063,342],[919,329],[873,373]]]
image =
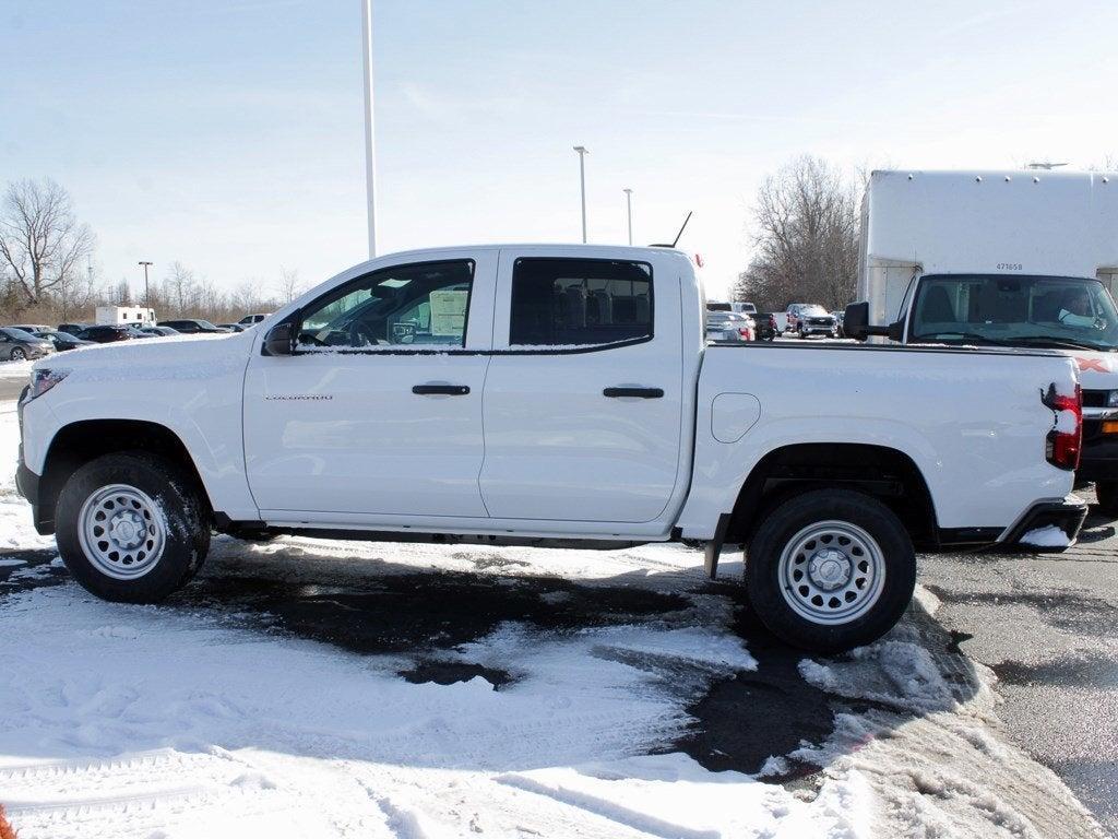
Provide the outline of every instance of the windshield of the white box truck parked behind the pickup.
[[1112,350],[1118,311],[1097,280],[927,276],[917,291],[909,340]]

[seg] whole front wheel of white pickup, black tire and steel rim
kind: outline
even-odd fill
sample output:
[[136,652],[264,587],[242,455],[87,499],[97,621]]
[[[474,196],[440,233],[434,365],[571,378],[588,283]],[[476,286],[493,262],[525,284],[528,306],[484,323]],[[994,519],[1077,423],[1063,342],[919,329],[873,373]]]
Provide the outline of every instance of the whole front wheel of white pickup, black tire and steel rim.
[[58,496],[58,553],[98,597],[154,603],[186,585],[209,550],[209,521],[174,463],[141,452],[105,454]]

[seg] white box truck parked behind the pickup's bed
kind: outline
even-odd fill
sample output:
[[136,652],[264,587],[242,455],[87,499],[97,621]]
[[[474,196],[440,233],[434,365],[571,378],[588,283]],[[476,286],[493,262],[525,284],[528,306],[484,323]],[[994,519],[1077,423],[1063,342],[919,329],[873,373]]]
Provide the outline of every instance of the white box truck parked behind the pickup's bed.
[[1118,176],[875,171],[861,247],[864,302],[847,310],[847,336],[1074,358],[1084,420],[1077,478],[1095,481],[1103,510],[1118,516]]

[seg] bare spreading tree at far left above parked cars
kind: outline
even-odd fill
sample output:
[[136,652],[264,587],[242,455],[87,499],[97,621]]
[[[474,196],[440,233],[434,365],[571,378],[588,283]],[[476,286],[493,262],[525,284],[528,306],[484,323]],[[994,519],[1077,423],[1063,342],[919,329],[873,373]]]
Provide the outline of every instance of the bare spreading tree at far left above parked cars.
[[8,185],[0,206],[0,258],[29,305],[75,281],[93,242],[63,187],[49,178]]

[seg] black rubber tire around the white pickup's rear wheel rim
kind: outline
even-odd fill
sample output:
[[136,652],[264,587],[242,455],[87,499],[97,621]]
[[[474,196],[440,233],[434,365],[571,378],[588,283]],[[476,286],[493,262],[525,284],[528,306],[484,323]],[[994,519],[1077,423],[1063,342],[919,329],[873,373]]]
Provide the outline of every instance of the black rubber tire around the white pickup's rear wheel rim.
[[[865,552],[858,556],[844,553],[860,550],[856,543],[851,548],[849,540],[844,547],[840,541],[832,544],[831,540],[821,539],[817,549],[811,547],[811,550],[819,553],[833,547],[845,558],[849,567],[842,566],[842,560],[839,560],[837,565],[831,565],[825,571],[828,574],[850,575],[849,582],[844,584],[849,586],[849,594],[853,595],[850,605],[840,597],[832,596],[847,596],[842,588],[823,593],[822,596],[827,600],[821,600],[816,606],[807,600],[815,588],[799,586],[803,594],[797,595],[792,587],[796,585],[792,582],[792,575],[799,572],[803,578],[804,571],[819,557],[819,553],[797,553],[793,547],[804,538],[805,531],[811,532],[808,528],[822,522],[839,522],[845,528],[853,526],[852,532],[870,537],[873,543],[868,544],[871,553],[873,547],[877,548],[877,558],[868,556],[868,560],[873,563],[870,567],[879,568],[881,573],[865,576],[869,572],[861,571],[862,563],[859,559],[860,556],[866,556]],[[781,568],[781,555],[786,547],[789,549],[788,560],[785,568]],[[826,557],[823,557],[822,562],[825,560]],[[839,571],[834,572],[834,568]],[[785,572],[789,581],[787,586],[781,582]],[[812,490],[769,511],[746,550],[745,579],[750,604],[774,635],[812,652],[833,653],[875,641],[900,620],[916,587],[916,552],[904,526],[892,510],[875,498],[851,490]],[[864,585],[859,585],[860,579]],[[812,579],[803,582],[811,583]],[[830,579],[826,582],[834,583]],[[875,600],[872,595],[874,591],[878,592]],[[819,597],[818,594],[814,596]],[[837,605],[834,604],[836,600],[840,601]],[[798,609],[802,611],[818,609],[823,612],[833,607],[837,610],[839,618],[832,620],[840,620],[841,613],[850,610],[850,620],[839,623],[814,621],[797,612],[789,601],[799,604]],[[865,611],[855,613],[853,610],[856,609]]]

